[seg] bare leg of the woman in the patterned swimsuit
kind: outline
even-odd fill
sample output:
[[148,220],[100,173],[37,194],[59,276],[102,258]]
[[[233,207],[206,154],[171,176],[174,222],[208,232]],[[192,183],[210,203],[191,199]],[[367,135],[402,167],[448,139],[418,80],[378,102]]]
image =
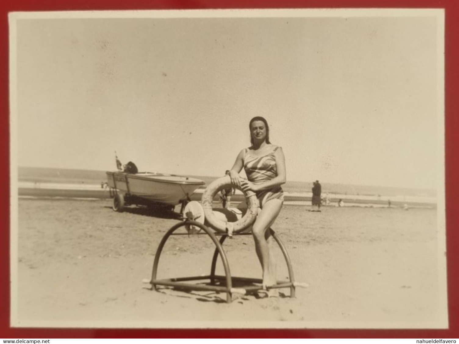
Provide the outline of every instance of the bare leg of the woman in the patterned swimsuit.
[[[274,220],[282,209],[282,201],[273,199],[266,202],[263,209],[257,216],[257,220],[252,226],[252,234],[255,240],[255,251],[260,260],[263,269],[263,287],[271,286],[276,283],[274,275],[274,265],[271,263],[274,259],[270,255],[268,240],[271,236],[268,229],[274,223]],[[269,240],[270,241],[270,240]]]

